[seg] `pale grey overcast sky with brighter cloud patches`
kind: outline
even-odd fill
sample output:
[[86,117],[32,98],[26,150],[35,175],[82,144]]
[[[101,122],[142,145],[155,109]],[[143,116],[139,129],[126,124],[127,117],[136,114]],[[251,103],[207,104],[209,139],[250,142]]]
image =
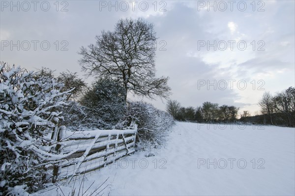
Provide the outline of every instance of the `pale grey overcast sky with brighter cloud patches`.
[[[79,48],[120,18],[142,17],[159,37],[157,75],[170,77],[171,99],[182,106],[210,101],[254,115],[265,91],[295,86],[294,0],[11,2],[0,2],[0,60],[11,65],[83,77]],[[152,103],[165,109],[165,100]]]

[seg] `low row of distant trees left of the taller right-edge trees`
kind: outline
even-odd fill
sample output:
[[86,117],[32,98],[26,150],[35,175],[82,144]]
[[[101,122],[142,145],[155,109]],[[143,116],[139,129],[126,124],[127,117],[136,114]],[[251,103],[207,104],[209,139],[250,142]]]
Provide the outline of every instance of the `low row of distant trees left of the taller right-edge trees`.
[[[236,122],[239,108],[236,106],[221,105],[218,103],[204,102],[202,106],[182,107],[177,100],[169,100],[166,110],[175,120],[189,121],[198,123],[216,123],[216,122]],[[248,111],[244,111],[241,118],[244,119],[249,115]]]

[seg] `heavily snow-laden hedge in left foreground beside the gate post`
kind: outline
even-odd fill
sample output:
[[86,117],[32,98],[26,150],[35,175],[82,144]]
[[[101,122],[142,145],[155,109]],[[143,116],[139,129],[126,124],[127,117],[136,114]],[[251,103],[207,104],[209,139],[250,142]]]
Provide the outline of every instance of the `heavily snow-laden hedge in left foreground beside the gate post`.
[[0,64],[0,195],[32,192],[49,180],[40,163],[55,156],[44,146],[62,118],[57,108],[69,94],[62,87],[50,77]]

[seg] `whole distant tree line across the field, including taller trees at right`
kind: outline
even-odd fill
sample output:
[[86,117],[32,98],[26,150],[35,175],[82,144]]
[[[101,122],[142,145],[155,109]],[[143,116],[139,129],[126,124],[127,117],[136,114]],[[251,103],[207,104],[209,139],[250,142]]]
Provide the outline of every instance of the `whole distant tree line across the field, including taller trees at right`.
[[243,122],[252,124],[276,125],[295,127],[295,88],[288,89],[271,95],[265,92],[258,105],[262,114],[251,116],[249,111],[238,115],[236,106],[221,105],[218,103],[204,102],[198,107],[182,107],[177,100],[169,100],[166,111],[177,121],[197,123],[229,123]]

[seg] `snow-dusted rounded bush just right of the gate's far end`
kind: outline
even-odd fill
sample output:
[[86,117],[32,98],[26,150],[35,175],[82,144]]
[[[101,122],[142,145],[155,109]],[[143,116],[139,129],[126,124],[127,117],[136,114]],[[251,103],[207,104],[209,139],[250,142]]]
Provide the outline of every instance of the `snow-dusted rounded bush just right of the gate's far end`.
[[165,144],[168,132],[174,125],[173,117],[169,113],[140,101],[128,104],[127,117],[138,125],[138,136],[143,149]]

